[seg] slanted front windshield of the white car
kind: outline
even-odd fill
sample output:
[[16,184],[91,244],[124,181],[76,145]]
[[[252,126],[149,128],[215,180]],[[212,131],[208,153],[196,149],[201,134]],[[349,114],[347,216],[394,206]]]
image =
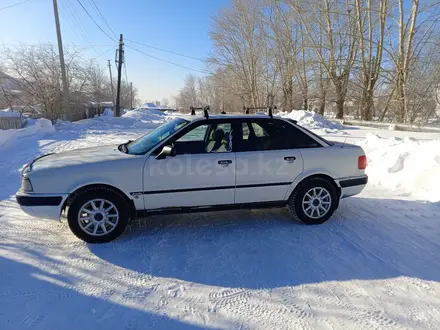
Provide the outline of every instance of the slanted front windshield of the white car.
[[186,126],[189,123],[188,120],[182,118],[173,119],[155,130],[151,131],[147,135],[140,137],[139,139],[132,141],[126,145],[127,153],[131,155],[143,155],[150,151],[158,143],[162,142],[168,136]]

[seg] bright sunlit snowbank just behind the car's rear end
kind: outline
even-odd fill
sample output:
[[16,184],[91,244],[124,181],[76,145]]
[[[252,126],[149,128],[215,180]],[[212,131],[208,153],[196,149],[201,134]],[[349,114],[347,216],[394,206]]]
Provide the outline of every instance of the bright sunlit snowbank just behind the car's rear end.
[[367,133],[357,144],[368,157],[370,184],[440,201],[440,140],[381,138]]

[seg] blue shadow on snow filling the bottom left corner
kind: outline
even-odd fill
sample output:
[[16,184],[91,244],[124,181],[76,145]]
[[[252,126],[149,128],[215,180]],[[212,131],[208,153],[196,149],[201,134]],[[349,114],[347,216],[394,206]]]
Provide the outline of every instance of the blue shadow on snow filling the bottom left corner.
[[94,297],[71,288],[68,277],[2,256],[0,278],[0,329],[202,329]]

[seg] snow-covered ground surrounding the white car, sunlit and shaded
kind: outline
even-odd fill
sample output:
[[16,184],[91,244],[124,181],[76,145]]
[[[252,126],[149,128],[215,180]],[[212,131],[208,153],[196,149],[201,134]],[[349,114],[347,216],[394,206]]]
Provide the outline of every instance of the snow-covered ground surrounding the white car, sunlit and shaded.
[[3,132],[0,329],[439,329],[440,135],[290,116],[367,152],[369,186],[329,222],[302,226],[287,210],[162,216],[104,245],[21,212],[19,169],[125,142],[165,116]]

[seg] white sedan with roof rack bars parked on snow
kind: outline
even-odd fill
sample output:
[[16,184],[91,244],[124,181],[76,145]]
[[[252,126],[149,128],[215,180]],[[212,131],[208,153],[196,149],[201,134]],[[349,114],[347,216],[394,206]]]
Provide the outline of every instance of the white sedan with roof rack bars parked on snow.
[[328,220],[367,184],[362,148],[264,115],[175,118],[119,146],[48,154],[26,165],[16,198],[80,239],[108,242],[140,213],[288,206],[305,224]]

